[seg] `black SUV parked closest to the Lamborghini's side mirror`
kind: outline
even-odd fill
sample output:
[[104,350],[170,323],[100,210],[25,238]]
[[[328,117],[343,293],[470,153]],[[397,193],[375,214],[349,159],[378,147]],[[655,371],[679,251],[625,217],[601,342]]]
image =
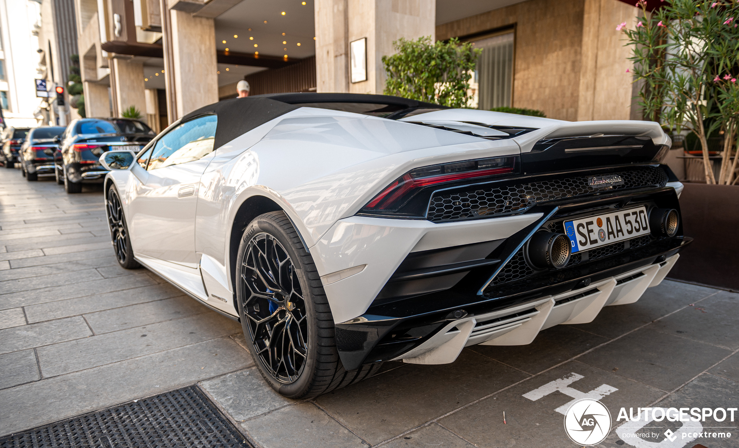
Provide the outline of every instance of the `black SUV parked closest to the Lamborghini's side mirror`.
[[61,142],[57,179],[67,193],[80,193],[82,183],[100,183],[108,171],[98,162],[111,147],[139,151],[156,134],[141,120],[80,118],[72,120]]

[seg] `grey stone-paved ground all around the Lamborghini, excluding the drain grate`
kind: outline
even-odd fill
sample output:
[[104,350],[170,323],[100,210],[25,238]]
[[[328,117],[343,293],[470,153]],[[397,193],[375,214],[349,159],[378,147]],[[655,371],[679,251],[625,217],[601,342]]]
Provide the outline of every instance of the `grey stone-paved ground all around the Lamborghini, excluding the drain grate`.
[[739,412],[616,422],[621,407],[739,407],[739,294],[665,280],[531,345],[476,345],[448,365],[386,362],[358,385],[294,401],[259,376],[238,323],[118,267],[102,196],[0,168],[0,435],[198,384],[264,448],[576,447],[558,410],[586,396],[615,427],[599,446],[739,447]]

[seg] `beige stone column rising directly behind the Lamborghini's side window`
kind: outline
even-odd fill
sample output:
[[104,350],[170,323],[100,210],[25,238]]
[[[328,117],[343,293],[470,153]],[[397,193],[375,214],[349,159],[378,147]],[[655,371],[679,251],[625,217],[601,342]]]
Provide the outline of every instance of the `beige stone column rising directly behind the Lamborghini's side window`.
[[170,10],[177,117],[218,101],[214,19]]

